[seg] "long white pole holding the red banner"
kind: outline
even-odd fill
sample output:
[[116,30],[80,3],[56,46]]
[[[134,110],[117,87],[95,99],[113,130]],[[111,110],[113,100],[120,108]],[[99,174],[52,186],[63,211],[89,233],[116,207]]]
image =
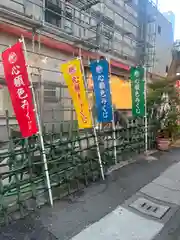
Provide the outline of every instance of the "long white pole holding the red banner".
[[[20,41],[23,43],[25,59],[27,61],[27,50],[26,50],[26,44],[25,44],[23,36],[21,36]],[[43,140],[43,136],[42,136],[41,122],[40,122],[40,118],[39,118],[39,114],[38,114],[38,110],[37,110],[37,103],[36,103],[36,98],[35,98],[35,92],[34,92],[34,88],[33,88],[32,78],[31,78],[31,76],[29,74],[29,66],[28,66],[27,62],[26,62],[26,66],[27,66],[27,71],[28,71],[28,76],[29,76],[29,81],[30,81],[30,88],[31,88],[31,92],[32,92],[32,98],[33,98],[33,102],[34,102],[34,111],[35,111],[35,114],[36,114],[37,125],[38,125],[38,129],[39,129],[38,135],[39,135],[39,140],[40,140],[41,149],[42,149],[42,157],[43,157],[44,171],[45,171],[47,187],[48,187],[49,201],[50,201],[51,206],[53,206],[53,197],[52,197],[51,183],[50,183],[50,177],[49,177],[49,170],[48,170],[48,165],[47,165],[47,158],[46,158],[45,147],[44,147],[44,140]]]

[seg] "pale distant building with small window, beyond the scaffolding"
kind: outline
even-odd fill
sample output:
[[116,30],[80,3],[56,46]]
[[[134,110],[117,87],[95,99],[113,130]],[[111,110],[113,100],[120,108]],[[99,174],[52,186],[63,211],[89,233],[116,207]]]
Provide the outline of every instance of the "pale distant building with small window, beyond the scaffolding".
[[166,76],[166,66],[170,67],[172,60],[174,41],[172,24],[152,4],[149,3],[147,6],[148,20],[152,20],[147,27],[147,41],[155,46],[149,48],[149,51],[155,51],[154,59],[150,61],[152,72]]

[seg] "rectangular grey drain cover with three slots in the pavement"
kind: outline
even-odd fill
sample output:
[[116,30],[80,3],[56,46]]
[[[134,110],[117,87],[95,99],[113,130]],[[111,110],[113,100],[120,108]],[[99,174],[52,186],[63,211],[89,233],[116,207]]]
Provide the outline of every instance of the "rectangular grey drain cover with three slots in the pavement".
[[139,212],[159,219],[161,219],[170,209],[170,207],[168,206],[154,203],[145,198],[138,198],[129,206],[138,210]]

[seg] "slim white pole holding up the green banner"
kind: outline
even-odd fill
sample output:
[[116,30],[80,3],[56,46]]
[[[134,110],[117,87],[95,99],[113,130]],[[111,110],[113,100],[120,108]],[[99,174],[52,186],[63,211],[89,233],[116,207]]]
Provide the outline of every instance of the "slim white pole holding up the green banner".
[[148,151],[148,118],[147,118],[147,68],[144,65],[144,125],[145,125],[145,154]]

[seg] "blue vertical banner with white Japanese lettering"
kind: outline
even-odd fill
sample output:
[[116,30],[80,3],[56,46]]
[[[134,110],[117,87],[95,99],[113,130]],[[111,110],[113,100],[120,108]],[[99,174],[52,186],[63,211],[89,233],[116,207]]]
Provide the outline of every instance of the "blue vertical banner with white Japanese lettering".
[[90,71],[94,82],[94,93],[98,122],[113,120],[112,101],[109,84],[109,63],[107,60],[92,61]]

